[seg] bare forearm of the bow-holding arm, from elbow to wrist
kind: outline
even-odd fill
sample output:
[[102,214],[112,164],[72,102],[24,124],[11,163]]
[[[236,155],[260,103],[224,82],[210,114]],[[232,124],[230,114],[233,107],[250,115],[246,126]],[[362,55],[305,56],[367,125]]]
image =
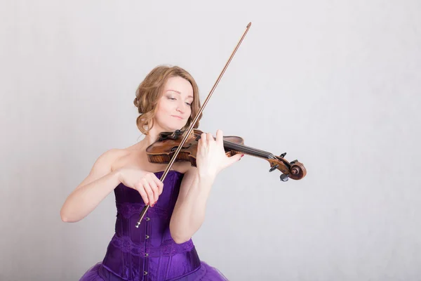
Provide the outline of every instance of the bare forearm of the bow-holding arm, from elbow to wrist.
[[60,210],[62,221],[74,223],[85,218],[119,183],[119,171],[112,171],[92,183],[76,188]]

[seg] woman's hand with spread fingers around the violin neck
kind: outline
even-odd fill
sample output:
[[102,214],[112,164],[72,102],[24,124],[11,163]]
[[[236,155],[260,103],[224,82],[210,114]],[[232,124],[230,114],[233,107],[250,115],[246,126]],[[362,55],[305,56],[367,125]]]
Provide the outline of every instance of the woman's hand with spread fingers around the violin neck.
[[216,176],[220,171],[238,162],[243,155],[227,157],[222,131],[216,131],[216,140],[211,133],[202,133],[197,145],[196,166],[200,175]]

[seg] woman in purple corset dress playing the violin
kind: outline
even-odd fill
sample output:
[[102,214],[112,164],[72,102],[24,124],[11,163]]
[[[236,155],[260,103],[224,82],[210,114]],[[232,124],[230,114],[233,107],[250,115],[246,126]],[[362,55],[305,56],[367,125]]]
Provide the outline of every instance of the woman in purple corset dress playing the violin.
[[[148,162],[146,148],[163,131],[189,128],[200,109],[198,87],[182,68],[161,65],[142,81],[134,103],[145,138],[100,155],[60,211],[62,221],[80,221],[113,190],[116,196],[115,234],[104,259],[81,280],[227,280],[199,259],[191,237],[203,223],[215,177],[243,155],[225,155],[222,131],[216,140],[202,133],[196,167],[175,162],[162,183],[166,164]],[[136,228],[145,204],[150,207]]]

